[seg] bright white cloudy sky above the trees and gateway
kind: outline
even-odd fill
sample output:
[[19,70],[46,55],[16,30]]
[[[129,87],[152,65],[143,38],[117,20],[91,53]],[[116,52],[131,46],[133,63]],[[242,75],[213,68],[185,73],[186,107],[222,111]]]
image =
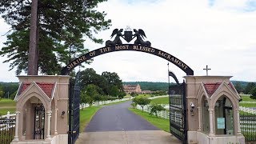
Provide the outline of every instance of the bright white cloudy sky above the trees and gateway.
[[[112,19],[110,30],[97,34],[110,39],[115,28],[142,29],[152,47],[181,59],[194,75],[229,75],[232,80],[256,82],[256,0],[109,0],[98,6]],[[0,47],[9,27],[0,18]],[[125,43],[125,42],[123,42]],[[104,44],[87,40],[86,48]],[[14,70],[0,58],[0,82],[18,82]],[[116,72],[123,81],[168,82],[167,61],[152,54],[114,52],[94,58],[90,66]],[[170,63],[182,81],[186,74]]]

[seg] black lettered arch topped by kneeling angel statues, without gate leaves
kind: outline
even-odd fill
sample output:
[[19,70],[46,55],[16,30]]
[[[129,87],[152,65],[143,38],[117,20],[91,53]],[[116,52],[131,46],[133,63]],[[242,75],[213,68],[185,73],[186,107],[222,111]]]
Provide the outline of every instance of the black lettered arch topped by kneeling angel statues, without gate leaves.
[[[124,31],[124,34],[122,34],[122,29],[115,29],[111,34],[111,38],[113,38],[114,35],[116,35],[114,40],[106,41],[105,47],[99,48],[97,50],[92,50],[86,54],[83,54],[79,58],[76,58],[72,62],[70,62],[67,66],[63,67],[61,74],[69,74],[71,70],[73,70],[76,66],[79,66],[82,62],[86,62],[87,60],[90,60],[91,58],[97,57],[99,55],[111,53],[114,51],[132,50],[148,54],[154,54],[158,57],[164,58],[167,61],[178,66],[181,70],[183,70],[186,73],[186,75],[194,75],[194,71],[190,68],[190,66],[187,66],[186,63],[182,62],[180,59],[174,57],[171,54],[151,47],[151,43],[149,41],[144,41],[143,38],[146,37],[146,34],[144,33],[143,30],[134,29],[133,34],[130,28],[126,28],[126,31]],[[134,44],[122,44],[121,38],[125,39],[126,42],[130,42],[134,38],[137,39],[134,41]]]

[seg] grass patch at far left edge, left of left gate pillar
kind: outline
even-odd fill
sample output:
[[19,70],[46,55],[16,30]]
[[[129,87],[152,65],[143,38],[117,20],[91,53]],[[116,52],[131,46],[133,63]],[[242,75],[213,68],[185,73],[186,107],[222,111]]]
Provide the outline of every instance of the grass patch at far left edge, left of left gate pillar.
[[10,111],[10,114],[14,113],[16,110],[16,102],[11,99],[2,98],[0,100],[0,115],[6,115],[7,111]]

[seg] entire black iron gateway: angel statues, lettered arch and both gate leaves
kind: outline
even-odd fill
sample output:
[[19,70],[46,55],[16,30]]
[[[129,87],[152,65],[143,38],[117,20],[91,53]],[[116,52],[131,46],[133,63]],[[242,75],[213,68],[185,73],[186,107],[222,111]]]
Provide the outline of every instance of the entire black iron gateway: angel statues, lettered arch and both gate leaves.
[[[143,38],[146,38],[146,34],[141,29],[134,29],[133,32],[129,29],[124,31],[122,34],[122,29],[113,30],[111,34],[111,38],[115,38],[113,41],[106,41],[106,46],[99,48],[97,50],[92,50],[86,54],[83,54],[79,58],[75,58],[71,61],[68,65],[62,68],[61,74],[66,75],[70,74],[71,70],[74,70],[76,66],[79,66],[82,62],[86,62],[91,58],[97,57],[102,54],[107,54],[115,51],[139,51],[148,54],[154,54],[160,58],[164,58],[167,61],[173,63],[174,65],[178,66],[181,70],[183,70],[186,75],[194,75],[194,71],[187,66],[186,63],[182,62],[180,59],[174,57],[171,54],[166,53],[165,51],[158,50],[154,47],[151,47],[151,42],[144,41]],[[134,44],[122,44],[122,40],[126,40],[126,42],[132,41],[134,38]],[[78,74],[79,75],[79,74]],[[73,144],[75,140],[78,138],[79,135],[79,102],[80,102],[80,87],[78,86],[79,76],[76,76],[75,84],[70,82],[70,106],[69,106],[69,143]],[[174,77],[173,75],[169,74],[170,76]],[[178,82],[177,78],[175,79]],[[175,124],[170,118],[170,132],[174,134],[177,138],[181,139],[183,142],[186,142],[186,87],[185,83],[183,82],[182,85],[177,86],[170,86],[169,87],[169,94],[170,94],[170,101],[174,101],[174,103],[170,102],[170,111],[178,111],[180,115],[183,117],[179,118],[178,125]],[[174,94],[178,94],[176,97],[171,97],[172,92]],[[178,105],[178,106],[177,106]],[[170,113],[170,115],[173,113]],[[175,115],[176,117],[176,115]],[[174,118],[174,116],[172,117]]]

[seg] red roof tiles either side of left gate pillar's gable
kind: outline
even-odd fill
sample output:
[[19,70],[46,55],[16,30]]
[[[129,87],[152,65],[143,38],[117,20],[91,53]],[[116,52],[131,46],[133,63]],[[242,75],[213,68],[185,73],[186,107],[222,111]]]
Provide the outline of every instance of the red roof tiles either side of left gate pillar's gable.
[[[19,94],[22,94],[22,92],[26,90],[30,84],[31,83],[23,83]],[[44,93],[46,93],[49,98],[51,98],[51,94],[54,89],[54,83],[36,82],[36,84],[42,89]]]

